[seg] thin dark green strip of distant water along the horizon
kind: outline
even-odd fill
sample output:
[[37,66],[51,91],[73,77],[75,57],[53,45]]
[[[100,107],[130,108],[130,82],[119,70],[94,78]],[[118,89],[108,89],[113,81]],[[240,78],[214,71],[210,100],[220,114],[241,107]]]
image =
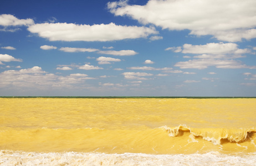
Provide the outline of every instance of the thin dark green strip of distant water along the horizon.
[[256,97],[191,97],[191,96],[0,96],[0,98],[256,98]]

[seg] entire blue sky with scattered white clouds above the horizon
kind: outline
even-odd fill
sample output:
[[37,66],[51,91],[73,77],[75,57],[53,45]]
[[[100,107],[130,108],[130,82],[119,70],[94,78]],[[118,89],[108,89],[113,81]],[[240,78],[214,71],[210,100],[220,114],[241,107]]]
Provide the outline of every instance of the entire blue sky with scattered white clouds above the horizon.
[[256,96],[256,1],[2,0],[0,96]]

